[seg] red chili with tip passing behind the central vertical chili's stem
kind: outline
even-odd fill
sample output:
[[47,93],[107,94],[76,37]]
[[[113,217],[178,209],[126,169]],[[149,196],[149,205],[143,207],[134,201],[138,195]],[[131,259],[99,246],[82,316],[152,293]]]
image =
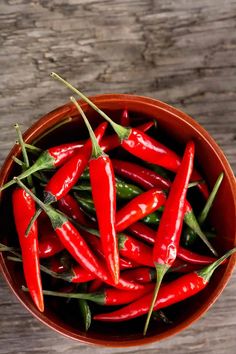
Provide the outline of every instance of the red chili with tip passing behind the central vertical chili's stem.
[[[100,124],[96,129],[96,136],[98,141],[105,133],[107,124]],[[70,189],[78,181],[80,175],[83,173],[88,164],[91,155],[91,140],[89,139],[81,151],[67,161],[57,172],[52,176],[45,187],[46,204],[55,202],[64,197]]]

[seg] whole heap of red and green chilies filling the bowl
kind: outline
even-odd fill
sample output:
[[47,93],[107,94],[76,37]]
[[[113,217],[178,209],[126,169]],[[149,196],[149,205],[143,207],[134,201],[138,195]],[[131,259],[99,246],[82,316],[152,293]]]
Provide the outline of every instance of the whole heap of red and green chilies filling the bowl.
[[14,161],[22,173],[1,191],[12,188],[20,251],[2,244],[0,251],[23,263],[22,290],[39,311],[45,298],[65,298],[65,308],[74,303],[86,331],[93,321],[143,316],[146,335],[156,311],[204,289],[236,251],[218,258],[207,218],[223,174],[209,191],[195,168],[194,141],[178,155],[153,138],[158,136],[153,121],[132,127],[125,109],[118,124],[59,75],[52,77],[105,122],[93,131],[71,97],[88,129],[87,140],[41,151],[26,144],[17,128],[23,161]]

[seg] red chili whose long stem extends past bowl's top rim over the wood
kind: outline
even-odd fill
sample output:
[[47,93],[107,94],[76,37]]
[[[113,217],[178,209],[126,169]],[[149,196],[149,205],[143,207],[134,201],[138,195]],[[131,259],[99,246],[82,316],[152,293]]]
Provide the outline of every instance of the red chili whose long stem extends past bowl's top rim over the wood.
[[[164,167],[170,171],[177,172],[181,165],[181,158],[174,151],[167,148],[160,142],[150,138],[148,135],[136,128],[122,127],[121,125],[113,122],[105,112],[99,109],[89,98],[87,98],[82,92],[73,87],[69,82],[64,80],[61,76],[54,72],[51,73],[51,76],[54,79],[62,82],[71,91],[75,92],[96,112],[98,112],[107,122],[109,122],[118,135],[121,141],[121,146],[125,150],[146,162],[160,165],[161,167]],[[202,180],[202,178],[196,171],[193,171],[192,180]],[[209,192],[206,184],[198,184],[198,188],[207,198]]]

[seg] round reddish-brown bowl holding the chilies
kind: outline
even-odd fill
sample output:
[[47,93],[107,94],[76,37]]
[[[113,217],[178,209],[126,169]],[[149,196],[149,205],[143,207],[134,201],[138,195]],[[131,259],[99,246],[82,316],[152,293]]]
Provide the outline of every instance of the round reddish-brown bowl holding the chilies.
[[[219,254],[232,248],[236,244],[236,185],[235,177],[223,152],[211,136],[192,118],[185,113],[163,102],[132,95],[101,95],[92,100],[102,110],[117,120],[124,108],[127,108],[133,119],[133,124],[147,119],[157,120],[155,134],[158,139],[166,142],[169,147],[182,153],[186,142],[194,139],[196,143],[196,161],[200,172],[211,188],[219,173],[224,171],[225,177],[217,195],[211,212],[211,223],[214,225],[219,237],[215,240],[215,247]],[[83,110],[96,126],[101,117],[87,104],[81,102]],[[38,146],[47,148],[65,141],[74,141],[87,136],[84,123],[78,116],[73,105],[66,104],[39,119],[24,134],[26,142],[34,142],[48,132],[55,124],[65,117],[71,116],[70,123],[63,125],[54,133],[42,137]],[[15,145],[8,155],[0,173],[0,185],[6,183],[12,176],[19,174],[12,156],[20,154],[19,146]],[[11,190],[2,192],[0,204],[0,230],[1,242],[16,244],[17,236],[14,229],[11,211]],[[3,231],[4,230],[4,231]],[[198,320],[220,296],[232,274],[236,257],[232,256],[224,266],[214,273],[210,284],[198,295],[167,310],[173,324],[157,323],[150,326],[148,335],[142,336],[144,319],[135,319],[120,324],[94,323],[91,330],[85,333],[80,327],[78,317],[74,318],[63,311],[63,306],[57,306],[57,300],[46,300],[46,310],[40,313],[34,307],[28,294],[21,290],[24,283],[21,265],[16,265],[0,257],[3,275],[12,291],[21,303],[41,322],[69,338],[96,345],[111,347],[126,347],[157,342],[184,330],[191,323]],[[59,301],[59,300],[58,300]],[[60,304],[60,302],[59,302]],[[60,310],[58,310],[58,307]]]

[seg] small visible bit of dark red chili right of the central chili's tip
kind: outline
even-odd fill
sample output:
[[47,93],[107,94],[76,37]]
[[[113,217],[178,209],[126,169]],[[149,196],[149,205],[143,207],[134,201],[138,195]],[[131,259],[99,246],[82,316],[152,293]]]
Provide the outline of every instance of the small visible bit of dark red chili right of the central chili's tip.
[[122,277],[129,281],[138,283],[150,283],[156,279],[156,272],[153,268],[140,267],[122,272]]

